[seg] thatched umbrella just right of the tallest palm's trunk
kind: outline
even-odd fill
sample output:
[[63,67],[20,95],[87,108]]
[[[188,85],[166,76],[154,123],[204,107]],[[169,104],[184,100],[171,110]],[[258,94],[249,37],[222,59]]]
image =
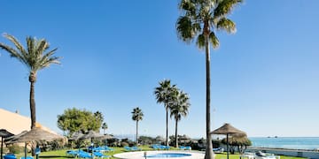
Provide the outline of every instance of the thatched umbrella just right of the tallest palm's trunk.
[[211,132],[211,134],[224,134],[226,135],[226,142],[227,142],[227,159],[229,159],[229,135],[232,136],[246,136],[246,133],[243,131],[238,130],[237,128],[235,128],[234,126],[226,123],[224,125],[222,125],[222,127],[214,130],[213,132]]

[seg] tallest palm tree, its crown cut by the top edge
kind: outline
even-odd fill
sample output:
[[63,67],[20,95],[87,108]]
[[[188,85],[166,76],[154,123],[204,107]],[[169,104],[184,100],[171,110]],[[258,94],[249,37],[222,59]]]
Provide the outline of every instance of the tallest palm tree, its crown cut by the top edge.
[[218,48],[216,31],[235,33],[236,25],[227,18],[233,8],[242,0],[181,0],[182,16],[177,19],[176,30],[183,42],[191,43],[195,38],[199,49],[206,52],[206,159],[214,158],[210,136],[210,51],[209,46]]

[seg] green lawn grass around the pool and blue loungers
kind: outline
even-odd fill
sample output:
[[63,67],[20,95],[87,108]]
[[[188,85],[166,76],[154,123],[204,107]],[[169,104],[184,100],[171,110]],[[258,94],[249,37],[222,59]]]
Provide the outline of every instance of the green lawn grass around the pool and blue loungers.
[[[153,150],[152,148],[149,148],[147,146],[143,146],[143,147],[139,147],[142,148],[144,151],[149,151],[149,150]],[[177,148],[173,148],[174,150],[176,150]],[[50,159],[67,159],[67,158],[73,158],[72,156],[68,156],[66,155],[66,150],[69,149],[63,149],[63,150],[56,150],[56,151],[49,151],[49,152],[42,152],[41,155],[39,156],[39,158],[50,158]],[[114,148],[113,152],[109,152],[109,153],[105,153],[105,155],[114,155],[114,154],[119,154],[119,153],[123,153],[126,152],[124,150],[124,148]],[[18,154],[17,158],[23,156],[24,154]],[[27,154],[30,155],[30,154]],[[111,159],[116,159],[115,157],[111,157]],[[226,153],[223,154],[216,154],[215,159],[227,159],[227,155]],[[239,159],[239,155],[230,155],[230,159]],[[284,156],[281,155],[280,159],[301,159],[301,157],[292,157],[292,156]]]

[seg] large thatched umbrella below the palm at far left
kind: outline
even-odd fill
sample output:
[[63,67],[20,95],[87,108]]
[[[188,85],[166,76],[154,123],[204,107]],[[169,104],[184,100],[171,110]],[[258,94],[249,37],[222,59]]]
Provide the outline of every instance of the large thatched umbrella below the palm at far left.
[[27,142],[41,140],[50,141],[58,139],[64,139],[64,137],[56,133],[45,131],[41,127],[35,127],[30,131],[12,136],[12,140],[10,140],[9,143],[25,142],[25,157],[27,158]]

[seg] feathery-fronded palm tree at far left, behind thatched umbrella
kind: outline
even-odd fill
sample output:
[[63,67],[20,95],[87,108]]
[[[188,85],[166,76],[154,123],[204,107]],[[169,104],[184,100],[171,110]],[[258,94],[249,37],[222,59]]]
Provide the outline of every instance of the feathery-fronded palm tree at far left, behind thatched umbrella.
[[35,81],[36,72],[51,64],[60,64],[60,57],[52,57],[57,49],[48,50],[49,42],[45,39],[37,40],[36,38],[27,37],[27,49],[12,35],[4,34],[4,37],[12,42],[15,48],[0,43],[0,48],[6,50],[11,57],[17,58],[22,64],[27,66],[30,82],[30,111],[31,111],[31,129],[35,128]]

